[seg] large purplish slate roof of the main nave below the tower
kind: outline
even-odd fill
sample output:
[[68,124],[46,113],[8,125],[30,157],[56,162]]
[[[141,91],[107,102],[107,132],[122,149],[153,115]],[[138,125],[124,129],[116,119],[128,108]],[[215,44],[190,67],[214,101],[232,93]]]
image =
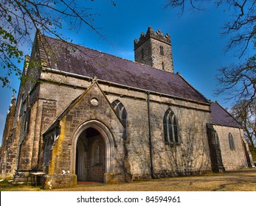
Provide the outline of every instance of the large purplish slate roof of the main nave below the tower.
[[128,87],[209,103],[207,99],[191,86],[183,77],[148,65],[135,63],[105,54],[94,49],[72,43],[63,43],[55,38],[41,35],[40,57],[46,67],[55,70],[97,77]]

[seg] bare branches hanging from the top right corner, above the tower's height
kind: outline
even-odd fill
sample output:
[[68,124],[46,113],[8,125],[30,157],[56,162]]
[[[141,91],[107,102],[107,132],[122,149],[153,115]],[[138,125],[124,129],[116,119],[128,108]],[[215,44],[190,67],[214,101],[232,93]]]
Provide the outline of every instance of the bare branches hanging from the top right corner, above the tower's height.
[[256,35],[256,1],[255,0],[167,0],[165,7],[179,8],[184,13],[185,8],[204,10],[205,4],[215,4],[216,8],[232,13],[232,19],[224,24],[223,33],[230,35],[227,49],[240,47],[241,57],[250,43],[255,43]]

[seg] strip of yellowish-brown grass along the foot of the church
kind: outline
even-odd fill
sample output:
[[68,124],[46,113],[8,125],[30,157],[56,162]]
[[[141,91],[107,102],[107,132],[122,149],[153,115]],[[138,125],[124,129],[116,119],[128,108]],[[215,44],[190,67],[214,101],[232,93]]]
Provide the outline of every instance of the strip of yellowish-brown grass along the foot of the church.
[[[45,191],[40,186],[0,182],[0,191]],[[120,184],[77,185],[52,191],[256,191],[256,168],[199,176],[140,180]]]

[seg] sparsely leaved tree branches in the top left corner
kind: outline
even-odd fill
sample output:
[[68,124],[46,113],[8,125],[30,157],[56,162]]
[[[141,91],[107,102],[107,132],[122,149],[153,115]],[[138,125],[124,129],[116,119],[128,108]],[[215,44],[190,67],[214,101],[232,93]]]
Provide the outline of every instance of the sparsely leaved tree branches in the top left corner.
[[61,29],[78,31],[84,26],[104,38],[93,24],[99,14],[93,13],[88,5],[89,2],[77,0],[1,0],[0,82],[3,87],[11,88],[10,75],[21,77],[17,64],[24,61],[22,48],[31,46],[36,30],[66,41],[69,38],[61,34]]

